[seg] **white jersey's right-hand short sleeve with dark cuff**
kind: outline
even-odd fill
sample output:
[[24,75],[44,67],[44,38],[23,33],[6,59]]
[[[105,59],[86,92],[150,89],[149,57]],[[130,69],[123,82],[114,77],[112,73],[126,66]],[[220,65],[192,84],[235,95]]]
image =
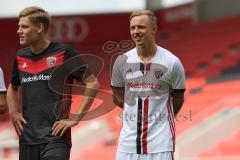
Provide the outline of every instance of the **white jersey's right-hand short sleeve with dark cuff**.
[[173,90],[185,90],[185,72],[179,60],[173,65],[170,84]]

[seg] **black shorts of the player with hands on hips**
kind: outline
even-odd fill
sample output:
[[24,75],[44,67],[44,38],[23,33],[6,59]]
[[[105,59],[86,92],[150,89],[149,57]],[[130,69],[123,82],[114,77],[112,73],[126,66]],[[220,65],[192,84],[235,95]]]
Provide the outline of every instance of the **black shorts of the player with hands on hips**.
[[63,140],[38,145],[19,145],[19,160],[69,160],[71,146]]

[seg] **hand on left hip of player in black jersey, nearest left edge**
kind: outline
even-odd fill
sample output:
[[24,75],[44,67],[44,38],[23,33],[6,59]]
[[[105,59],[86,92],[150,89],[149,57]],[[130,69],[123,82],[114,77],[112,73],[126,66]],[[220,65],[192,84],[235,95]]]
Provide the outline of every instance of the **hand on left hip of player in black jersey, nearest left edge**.
[[20,136],[23,131],[22,123],[26,124],[26,120],[23,118],[21,113],[11,113],[10,118],[12,120],[13,126],[17,132],[17,135]]

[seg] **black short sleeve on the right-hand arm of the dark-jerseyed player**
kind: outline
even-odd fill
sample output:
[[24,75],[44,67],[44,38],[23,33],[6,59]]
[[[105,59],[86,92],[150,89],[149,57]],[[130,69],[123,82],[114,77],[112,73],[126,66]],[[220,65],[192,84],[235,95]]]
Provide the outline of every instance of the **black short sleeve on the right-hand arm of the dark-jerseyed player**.
[[73,70],[73,72],[71,73],[71,76],[73,78],[75,78],[76,80],[82,80],[84,77],[92,74],[89,66],[82,60],[81,55],[77,53],[75,49],[68,46],[66,55],[67,61],[71,61],[68,64],[76,66],[76,69]]

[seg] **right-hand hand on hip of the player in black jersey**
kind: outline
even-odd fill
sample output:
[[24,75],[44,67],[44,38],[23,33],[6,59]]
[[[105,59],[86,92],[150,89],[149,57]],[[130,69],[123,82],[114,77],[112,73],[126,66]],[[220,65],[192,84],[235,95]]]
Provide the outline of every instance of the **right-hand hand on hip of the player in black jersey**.
[[66,132],[66,130],[76,126],[78,123],[78,120],[70,118],[57,121],[52,127],[52,135],[57,136],[60,134],[60,136],[62,136]]

